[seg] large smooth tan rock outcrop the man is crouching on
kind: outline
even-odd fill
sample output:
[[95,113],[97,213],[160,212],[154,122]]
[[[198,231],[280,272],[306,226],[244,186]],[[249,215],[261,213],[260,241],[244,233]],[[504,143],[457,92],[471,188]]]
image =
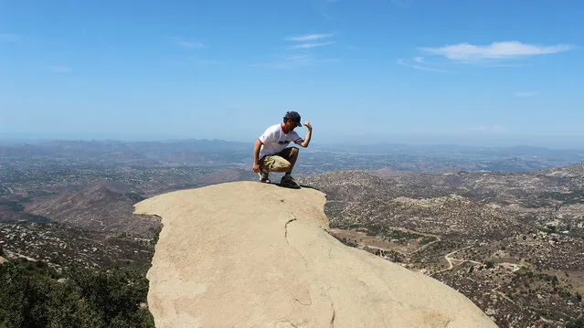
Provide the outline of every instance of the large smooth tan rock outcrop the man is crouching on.
[[495,327],[461,293],[327,233],[325,196],[257,182],[146,199],[156,327]]

